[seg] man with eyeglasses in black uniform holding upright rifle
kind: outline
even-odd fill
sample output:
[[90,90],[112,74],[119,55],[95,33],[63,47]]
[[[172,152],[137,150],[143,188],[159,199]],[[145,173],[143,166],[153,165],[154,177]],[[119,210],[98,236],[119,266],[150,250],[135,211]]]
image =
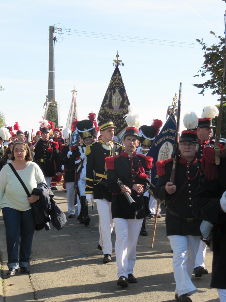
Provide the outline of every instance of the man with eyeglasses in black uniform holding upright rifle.
[[201,174],[201,164],[195,157],[198,148],[197,132],[182,131],[175,184],[170,182],[172,159],[156,163],[159,179],[154,195],[155,198],[165,200],[166,234],[174,251],[175,299],[181,302],[192,302],[189,296],[197,291],[191,277],[201,236],[199,229],[201,220],[195,218],[192,212],[192,199]]

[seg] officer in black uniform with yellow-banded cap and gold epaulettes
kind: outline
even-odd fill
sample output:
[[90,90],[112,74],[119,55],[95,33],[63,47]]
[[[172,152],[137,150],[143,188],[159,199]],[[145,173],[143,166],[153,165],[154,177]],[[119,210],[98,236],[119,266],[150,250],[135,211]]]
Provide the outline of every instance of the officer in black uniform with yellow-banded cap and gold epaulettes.
[[[104,254],[103,262],[111,262],[112,243],[111,232],[114,227],[111,217],[111,193],[107,189],[107,173],[105,157],[119,155],[122,146],[113,143],[114,124],[112,120],[102,120],[98,124],[102,139],[86,147],[86,199],[93,203],[96,199],[99,214],[99,249]],[[94,172],[93,172],[94,171]]]

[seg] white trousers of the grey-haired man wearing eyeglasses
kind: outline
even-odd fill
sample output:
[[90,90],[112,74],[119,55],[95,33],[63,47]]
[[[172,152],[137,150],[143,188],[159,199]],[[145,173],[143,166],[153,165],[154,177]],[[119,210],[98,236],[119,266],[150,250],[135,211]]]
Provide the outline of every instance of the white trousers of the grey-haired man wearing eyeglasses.
[[175,294],[194,294],[197,289],[191,281],[199,249],[200,236],[168,236],[173,253],[173,271],[176,282]]

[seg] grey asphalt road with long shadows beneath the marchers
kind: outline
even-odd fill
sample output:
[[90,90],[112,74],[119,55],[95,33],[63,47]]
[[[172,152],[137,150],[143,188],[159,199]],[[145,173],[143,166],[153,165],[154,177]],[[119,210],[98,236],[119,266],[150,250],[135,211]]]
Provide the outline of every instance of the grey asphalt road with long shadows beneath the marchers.
[[[66,193],[55,191],[55,200],[67,214]],[[164,209],[163,209],[164,211]],[[137,261],[134,275],[136,284],[128,288],[116,285],[117,265],[103,264],[103,256],[97,249],[99,241],[96,205],[92,210],[90,226],[80,225],[76,218],[68,219],[61,231],[36,231],[33,239],[30,275],[7,278],[7,254],[5,229],[0,215],[0,250],[3,265],[4,302],[173,302],[174,277],[172,254],[165,235],[165,214],[158,220],[156,240],[151,249],[153,219],[147,219],[148,236],[140,236],[137,244]],[[113,243],[115,233],[112,234]],[[206,254],[206,268],[211,271],[212,253]],[[202,278],[192,277],[198,292],[193,302],[217,302],[215,289],[209,288],[211,274]],[[12,285],[13,284],[13,285]],[[1,287],[0,287],[1,290]],[[2,300],[1,300],[2,299]],[[0,296],[0,302],[3,301]]]

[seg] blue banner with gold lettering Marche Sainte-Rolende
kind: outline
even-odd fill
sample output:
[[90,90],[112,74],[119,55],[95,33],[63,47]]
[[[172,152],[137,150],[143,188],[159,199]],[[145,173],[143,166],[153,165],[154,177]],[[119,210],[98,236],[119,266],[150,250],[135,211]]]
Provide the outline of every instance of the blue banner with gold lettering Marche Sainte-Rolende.
[[174,115],[170,115],[165,122],[165,125],[162,127],[159,135],[154,140],[150,150],[147,153],[147,156],[153,157],[153,167],[152,167],[152,178],[149,191],[153,192],[155,188],[158,175],[156,172],[155,163],[159,160],[166,160],[171,158],[173,151],[173,144],[175,140],[176,133],[176,120]]

